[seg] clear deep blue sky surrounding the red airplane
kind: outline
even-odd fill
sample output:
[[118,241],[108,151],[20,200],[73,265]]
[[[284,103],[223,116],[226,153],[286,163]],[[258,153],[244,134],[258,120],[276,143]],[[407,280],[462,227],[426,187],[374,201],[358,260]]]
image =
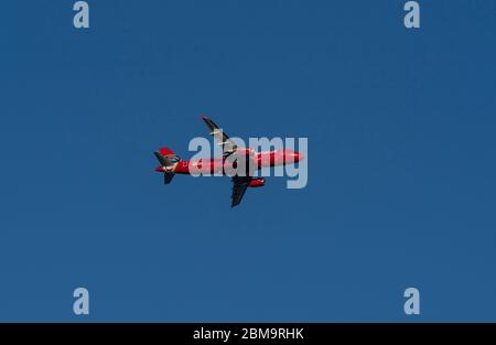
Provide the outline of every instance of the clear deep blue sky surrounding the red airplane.
[[[0,8],[0,321],[496,321],[496,2],[73,2]],[[164,186],[200,115],[308,187]]]

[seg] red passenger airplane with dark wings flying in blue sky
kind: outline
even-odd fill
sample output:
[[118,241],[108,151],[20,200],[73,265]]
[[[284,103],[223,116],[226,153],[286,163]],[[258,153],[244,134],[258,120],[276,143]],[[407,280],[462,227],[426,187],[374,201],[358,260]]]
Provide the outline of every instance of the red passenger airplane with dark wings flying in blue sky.
[[[239,205],[248,187],[261,187],[266,184],[265,179],[254,177],[255,170],[296,163],[303,159],[303,154],[292,150],[256,152],[250,148],[238,148],[214,121],[206,117],[202,117],[202,119],[207,125],[211,136],[217,141],[217,144],[223,147],[223,155],[212,159],[183,161],[171,149],[161,148],[153,153],[160,162],[160,166],[155,168],[155,171],[163,173],[164,184],[170,184],[175,174],[187,175],[192,174],[193,171],[196,173],[229,175],[225,169],[226,162],[229,161],[233,164],[231,166],[236,168],[238,162],[245,160],[245,166],[250,166],[251,169],[246,169],[246,173],[235,173],[230,176],[233,181],[230,207],[235,207]],[[248,160],[252,160],[252,164],[248,164]]]

